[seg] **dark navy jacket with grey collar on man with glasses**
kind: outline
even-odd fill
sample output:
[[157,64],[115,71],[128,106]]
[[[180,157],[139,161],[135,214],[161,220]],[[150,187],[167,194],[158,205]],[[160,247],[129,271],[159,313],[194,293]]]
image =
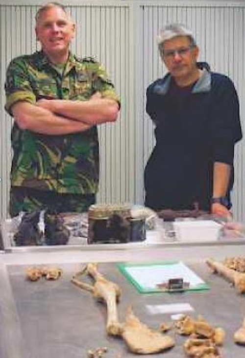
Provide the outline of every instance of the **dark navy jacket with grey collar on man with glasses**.
[[[242,138],[239,100],[229,77],[198,64],[202,76],[184,96],[167,74],[147,88],[147,113],[156,144],[145,168],[146,205],[154,209],[209,210],[215,162],[231,165]],[[175,85],[176,87],[176,85]],[[229,192],[227,193],[229,196]]]

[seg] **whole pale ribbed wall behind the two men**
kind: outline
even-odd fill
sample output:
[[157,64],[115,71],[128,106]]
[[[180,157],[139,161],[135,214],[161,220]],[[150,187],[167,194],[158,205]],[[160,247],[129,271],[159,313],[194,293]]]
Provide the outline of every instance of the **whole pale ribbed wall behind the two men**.
[[[18,1],[20,2],[20,1]],[[6,66],[10,59],[37,48],[34,15],[38,1],[11,5],[0,0],[0,215],[7,215],[11,163],[11,119],[4,112]],[[122,99],[119,121],[99,128],[101,179],[99,202],[143,203],[144,167],[152,149],[152,124],[145,113],[147,85],[164,73],[158,57],[156,36],[170,22],[188,24],[200,46],[200,60],[235,82],[245,118],[245,5],[205,2],[104,1],[82,4],[70,1],[77,26],[72,50],[96,55],[104,64]],[[245,221],[244,143],[236,151],[233,195],[235,218]]]

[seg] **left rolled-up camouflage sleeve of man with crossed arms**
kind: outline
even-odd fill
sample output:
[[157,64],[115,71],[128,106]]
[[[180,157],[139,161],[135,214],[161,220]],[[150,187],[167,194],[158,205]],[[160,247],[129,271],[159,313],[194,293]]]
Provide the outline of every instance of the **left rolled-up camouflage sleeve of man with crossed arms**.
[[11,107],[13,104],[19,101],[36,102],[24,57],[18,57],[10,62],[6,73],[5,94],[5,110],[10,115],[12,115]]

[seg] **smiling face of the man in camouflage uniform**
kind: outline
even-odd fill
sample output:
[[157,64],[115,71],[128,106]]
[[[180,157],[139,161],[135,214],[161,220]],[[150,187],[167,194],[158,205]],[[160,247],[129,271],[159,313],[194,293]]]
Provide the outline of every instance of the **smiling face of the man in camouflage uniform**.
[[69,51],[74,32],[73,22],[60,7],[51,7],[41,13],[36,25],[37,39],[51,57]]

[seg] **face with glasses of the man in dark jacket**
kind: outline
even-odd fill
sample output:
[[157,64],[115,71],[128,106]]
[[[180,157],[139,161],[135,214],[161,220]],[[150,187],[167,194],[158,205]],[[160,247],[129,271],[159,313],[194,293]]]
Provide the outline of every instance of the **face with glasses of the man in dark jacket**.
[[167,40],[163,45],[163,60],[165,66],[176,79],[188,79],[196,71],[198,48],[190,46],[187,36],[177,36]]

